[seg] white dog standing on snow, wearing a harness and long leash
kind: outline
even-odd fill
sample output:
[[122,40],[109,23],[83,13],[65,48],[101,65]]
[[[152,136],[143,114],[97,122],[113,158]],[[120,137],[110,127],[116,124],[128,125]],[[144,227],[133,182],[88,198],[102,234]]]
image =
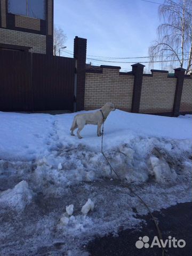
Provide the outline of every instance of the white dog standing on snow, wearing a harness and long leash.
[[98,126],[97,135],[101,136],[101,125],[105,122],[110,111],[115,111],[113,103],[106,103],[100,110],[92,113],[78,114],[74,117],[73,124],[71,126],[71,135],[74,136],[74,130],[77,129],[77,136],[82,139],[80,132],[86,124],[95,124]]

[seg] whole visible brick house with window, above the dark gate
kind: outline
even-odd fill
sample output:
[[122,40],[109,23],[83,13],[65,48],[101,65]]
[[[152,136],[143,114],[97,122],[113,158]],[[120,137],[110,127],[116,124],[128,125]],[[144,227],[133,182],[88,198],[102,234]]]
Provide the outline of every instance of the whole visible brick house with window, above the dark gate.
[[0,0],[0,50],[53,54],[53,0]]

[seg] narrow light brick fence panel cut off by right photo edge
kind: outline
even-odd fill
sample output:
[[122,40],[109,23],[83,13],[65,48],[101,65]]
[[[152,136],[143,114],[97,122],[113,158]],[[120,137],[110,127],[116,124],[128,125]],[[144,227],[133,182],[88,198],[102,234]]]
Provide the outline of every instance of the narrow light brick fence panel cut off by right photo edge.
[[180,111],[192,111],[192,79],[184,78]]

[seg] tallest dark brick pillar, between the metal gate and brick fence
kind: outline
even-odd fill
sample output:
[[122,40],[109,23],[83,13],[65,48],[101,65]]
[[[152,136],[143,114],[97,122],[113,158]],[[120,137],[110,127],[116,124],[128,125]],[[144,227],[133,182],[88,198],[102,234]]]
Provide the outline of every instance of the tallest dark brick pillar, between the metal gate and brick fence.
[[85,65],[86,65],[86,39],[78,36],[74,39],[74,58],[76,59],[77,77],[75,82],[74,111],[84,110],[85,98]]

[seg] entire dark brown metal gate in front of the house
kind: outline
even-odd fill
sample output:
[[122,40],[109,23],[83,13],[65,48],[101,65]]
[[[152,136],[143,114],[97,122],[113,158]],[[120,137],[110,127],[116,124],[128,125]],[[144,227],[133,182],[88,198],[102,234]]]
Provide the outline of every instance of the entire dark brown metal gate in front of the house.
[[71,110],[75,59],[0,51],[0,110]]

